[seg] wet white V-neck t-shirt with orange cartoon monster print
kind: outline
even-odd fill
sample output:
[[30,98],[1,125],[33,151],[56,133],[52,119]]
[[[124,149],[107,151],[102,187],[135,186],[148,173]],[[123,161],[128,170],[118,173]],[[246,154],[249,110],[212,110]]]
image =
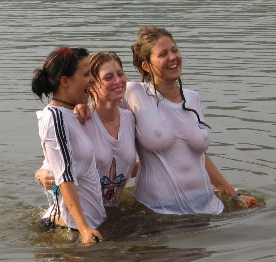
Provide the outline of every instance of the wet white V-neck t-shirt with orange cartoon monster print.
[[107,132],[98,113],[91,106],[91,118],[82,126],[95,147],[95,160],[104,204],[119,204],[136,161],[134,115],[126,109],[118,110],[118,140]]

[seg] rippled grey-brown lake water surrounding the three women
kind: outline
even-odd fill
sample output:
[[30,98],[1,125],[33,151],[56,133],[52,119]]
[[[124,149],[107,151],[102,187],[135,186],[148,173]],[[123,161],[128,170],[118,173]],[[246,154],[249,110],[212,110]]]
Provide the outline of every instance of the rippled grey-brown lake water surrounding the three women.
[[[275,17],[274,0],[0,1],[0,260],[276,261]],[[34,180],[43,160],[35,112],[44,105],[32,72],[69,45],[116,51],[139,81],[130,46],[149,24],[180,48],[182,82],[201,94],[212,127],[211,159],[262,206],[234,211],[220,195],[226,213],[167,216],[125,192],[100,229],[111,241],[81,247],[39,223],[48,203]]]

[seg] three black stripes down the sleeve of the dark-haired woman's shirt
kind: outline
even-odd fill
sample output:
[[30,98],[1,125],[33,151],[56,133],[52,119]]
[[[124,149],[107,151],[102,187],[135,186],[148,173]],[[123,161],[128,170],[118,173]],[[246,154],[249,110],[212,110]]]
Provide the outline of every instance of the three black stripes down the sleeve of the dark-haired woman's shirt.
[[63,118],[62,118],[62,112],[56,108],[48,108],[49,111],[52,113],[52,117],[54,120],[54,128],[55,128],[55,135],[57,137],[57,142],[59,143],[61,153],[65,165],[65,170],[62,174],[64,181],[73,181],[73,176],[70,170],[70,165],[72,164],[72,157],[70,150],[67,145],[67,139],[65,135],[65,130],[63,126]]

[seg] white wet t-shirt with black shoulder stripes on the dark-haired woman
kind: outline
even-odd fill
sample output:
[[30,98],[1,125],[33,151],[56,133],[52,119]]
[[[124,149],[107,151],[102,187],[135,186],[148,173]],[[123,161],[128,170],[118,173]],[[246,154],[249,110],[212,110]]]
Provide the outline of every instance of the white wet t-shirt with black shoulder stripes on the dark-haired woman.
[[[73,110],[48,105],[37,112],[37,117],[44,167],[51,167],[56,185],[64,181],[74,182],[85,219],[90,227],[97,228],[106,215],[90,138],[83,132]],[[65,224],[77,229],[61,194],[58,204]],[[51,210],[52,207],[44,217],[49,217]]]

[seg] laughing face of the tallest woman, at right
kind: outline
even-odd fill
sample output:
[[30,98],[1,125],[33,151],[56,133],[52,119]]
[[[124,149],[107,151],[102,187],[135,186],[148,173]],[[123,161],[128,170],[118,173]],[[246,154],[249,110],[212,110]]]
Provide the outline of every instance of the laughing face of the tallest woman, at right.
[[152,48],[149,65],[155,84],[174,82],[179,79],[182,58],[176,44],[170,37],[162,36],[156,41]]

